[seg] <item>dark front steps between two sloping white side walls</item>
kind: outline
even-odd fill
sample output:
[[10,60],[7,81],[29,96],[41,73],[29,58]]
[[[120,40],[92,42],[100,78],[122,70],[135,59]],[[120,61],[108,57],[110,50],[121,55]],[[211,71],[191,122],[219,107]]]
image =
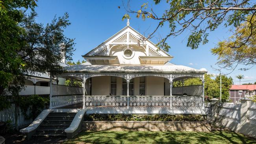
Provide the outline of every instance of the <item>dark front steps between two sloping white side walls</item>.
[[43,120],[33,137],[66,137],[67,129],[76,113],[74,112],[52,112]]

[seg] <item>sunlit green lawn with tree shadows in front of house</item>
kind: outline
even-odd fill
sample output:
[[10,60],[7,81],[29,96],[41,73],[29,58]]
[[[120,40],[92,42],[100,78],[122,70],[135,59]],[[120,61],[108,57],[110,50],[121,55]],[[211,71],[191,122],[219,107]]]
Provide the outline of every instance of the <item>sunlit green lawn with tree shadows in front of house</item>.
[[232,131],[151,132],[151,131],[86,131],[65,144],[256,144],[256,139]]

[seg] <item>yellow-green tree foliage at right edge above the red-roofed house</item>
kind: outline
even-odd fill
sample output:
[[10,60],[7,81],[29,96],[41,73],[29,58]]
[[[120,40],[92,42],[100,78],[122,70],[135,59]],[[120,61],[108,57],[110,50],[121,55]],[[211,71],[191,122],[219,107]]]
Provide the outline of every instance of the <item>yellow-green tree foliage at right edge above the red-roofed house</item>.
[[217,64],[220,68],[234,70],[238,65],[245,65],[247,67],[240,70],[248,70],[256,65],[255,12],[236,28],[230,38],[219,42],[215,48],[211,49],[211,53],[218,56]]

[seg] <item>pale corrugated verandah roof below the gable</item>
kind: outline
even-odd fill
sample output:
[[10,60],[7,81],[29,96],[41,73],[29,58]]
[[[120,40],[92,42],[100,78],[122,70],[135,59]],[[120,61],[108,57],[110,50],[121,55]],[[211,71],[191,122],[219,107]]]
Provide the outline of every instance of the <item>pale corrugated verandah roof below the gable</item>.
[[74,65],[64,67],[66,72],[124,72],[124,73],[207,73],[182,65]]

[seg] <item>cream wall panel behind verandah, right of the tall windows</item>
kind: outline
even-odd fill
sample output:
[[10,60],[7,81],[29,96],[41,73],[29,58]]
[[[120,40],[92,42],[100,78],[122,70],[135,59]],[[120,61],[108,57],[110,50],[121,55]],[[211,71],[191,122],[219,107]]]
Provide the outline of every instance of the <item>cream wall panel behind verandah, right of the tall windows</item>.
[[146,95],[147,96],[163,96],[164,78],[157,76],[147,76],[146,77]]

